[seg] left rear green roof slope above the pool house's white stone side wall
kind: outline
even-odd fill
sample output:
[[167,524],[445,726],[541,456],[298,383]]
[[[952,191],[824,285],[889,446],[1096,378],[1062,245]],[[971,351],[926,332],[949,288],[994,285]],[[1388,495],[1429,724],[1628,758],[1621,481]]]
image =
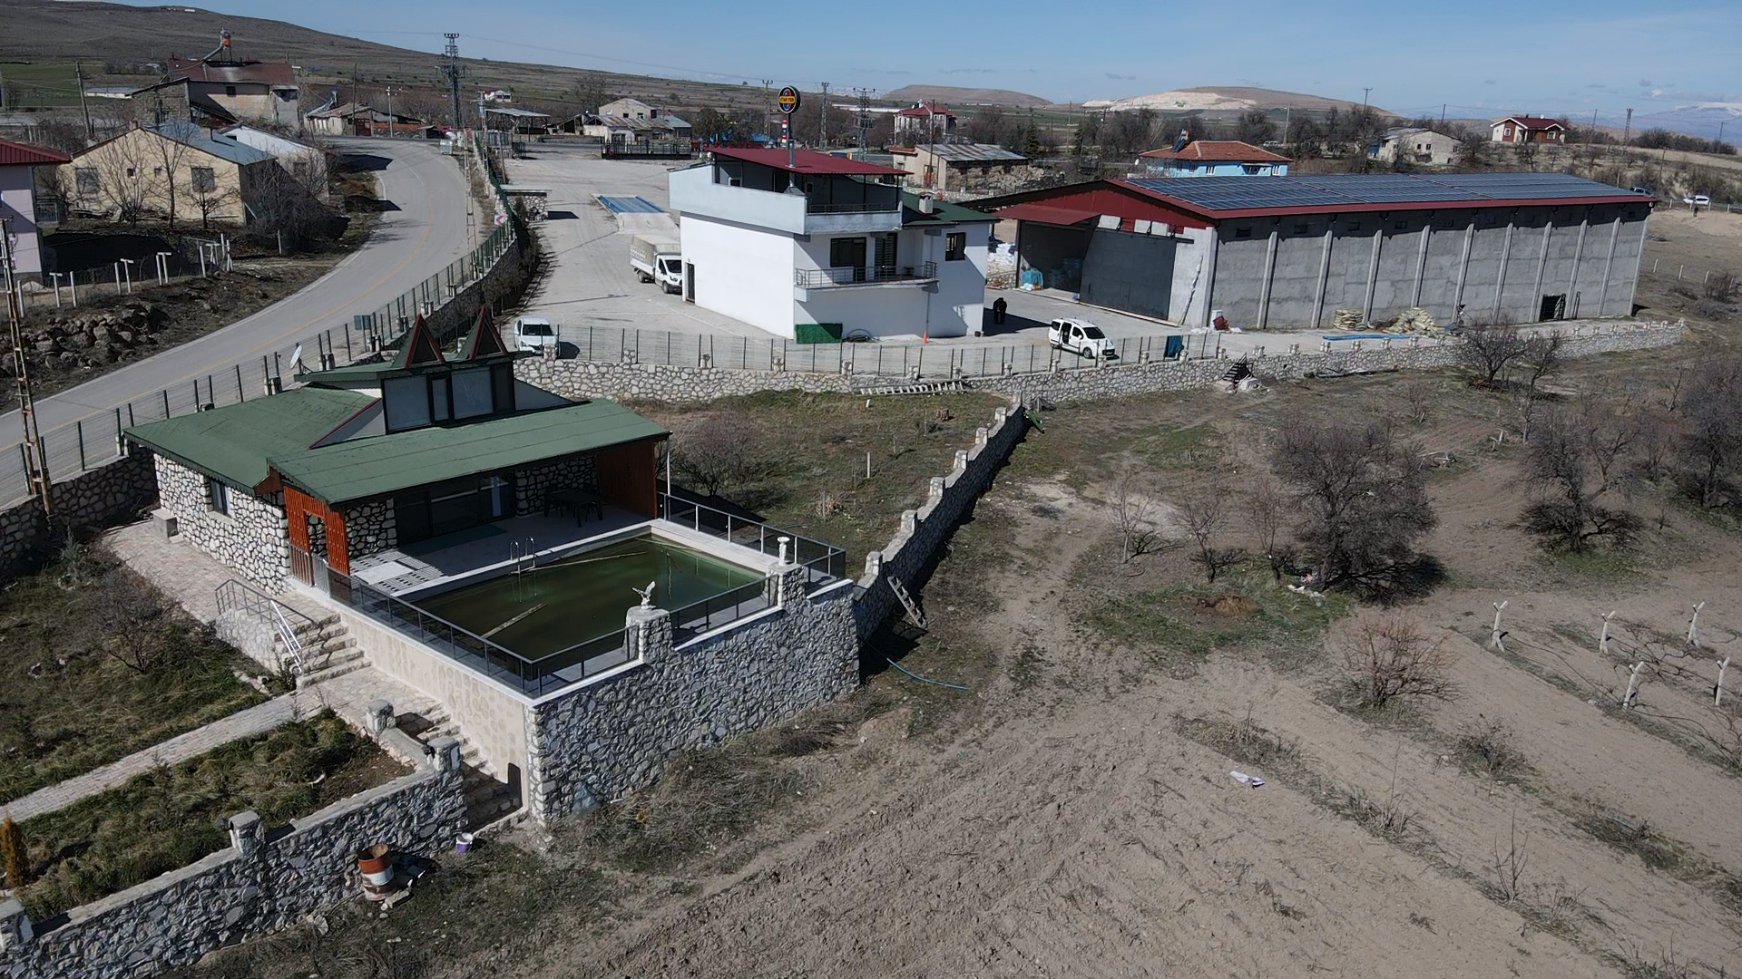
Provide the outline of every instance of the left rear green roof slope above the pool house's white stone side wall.
[[213,411],[134,425],[127,429],[127,437],[253,490],[268,476],[267,458],[307,451],[373,401],[362,392],[300,387]]

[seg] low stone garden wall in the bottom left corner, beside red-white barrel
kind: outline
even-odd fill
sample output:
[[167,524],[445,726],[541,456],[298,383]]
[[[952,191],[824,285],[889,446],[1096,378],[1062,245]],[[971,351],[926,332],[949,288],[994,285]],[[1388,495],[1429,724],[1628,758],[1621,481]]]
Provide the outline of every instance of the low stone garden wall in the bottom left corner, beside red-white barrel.
[[[397,730],[394,754],[423,758]],[[242,939],[294,925],[361,892],[357,852],[387,843],[430,857],[465,827],[460,742],[442,739],[418,770],[270,834],[254,814],[230,819],[230,848],[31,927],[0,902],[0,976],[120,979],[188,965]],[[31,934],[35,932],[35,934]]]

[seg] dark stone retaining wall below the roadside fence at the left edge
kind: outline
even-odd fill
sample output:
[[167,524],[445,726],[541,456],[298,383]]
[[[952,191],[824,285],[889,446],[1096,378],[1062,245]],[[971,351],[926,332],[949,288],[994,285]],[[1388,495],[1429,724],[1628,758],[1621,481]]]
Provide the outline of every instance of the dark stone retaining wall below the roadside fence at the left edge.
[[152,453],[132,455],[56,483],[54,519],[37,500],[0,510],[0,580],[19,575],[66,542],[66,533],[110,524],[152,505],[157,484]]

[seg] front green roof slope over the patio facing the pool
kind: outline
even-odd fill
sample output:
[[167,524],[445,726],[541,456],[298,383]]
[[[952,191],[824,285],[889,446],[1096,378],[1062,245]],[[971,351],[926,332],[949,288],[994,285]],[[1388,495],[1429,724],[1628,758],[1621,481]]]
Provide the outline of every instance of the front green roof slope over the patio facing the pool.
[[284,479],[327,503],[479,476],[665,435],[615,401],[592,399],[463,425],[430,425],[272,456]]

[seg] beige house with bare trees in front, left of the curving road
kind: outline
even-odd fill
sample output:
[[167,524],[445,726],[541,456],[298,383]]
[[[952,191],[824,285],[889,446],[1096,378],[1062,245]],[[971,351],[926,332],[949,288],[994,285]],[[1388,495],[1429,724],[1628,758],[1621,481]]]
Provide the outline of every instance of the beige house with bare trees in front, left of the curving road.
[[134,124],[59,169],[73,211],[242,223],[272,153],[186,120]]

